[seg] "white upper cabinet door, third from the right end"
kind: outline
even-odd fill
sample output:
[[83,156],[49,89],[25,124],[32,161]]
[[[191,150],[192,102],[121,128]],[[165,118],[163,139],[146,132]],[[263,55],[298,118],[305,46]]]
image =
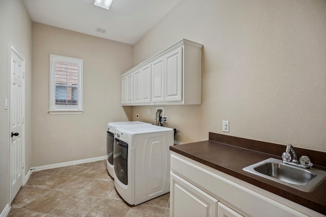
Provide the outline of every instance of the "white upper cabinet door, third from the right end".
[[151,102],[151,65],[148,64],[141,69],[141,101]]

